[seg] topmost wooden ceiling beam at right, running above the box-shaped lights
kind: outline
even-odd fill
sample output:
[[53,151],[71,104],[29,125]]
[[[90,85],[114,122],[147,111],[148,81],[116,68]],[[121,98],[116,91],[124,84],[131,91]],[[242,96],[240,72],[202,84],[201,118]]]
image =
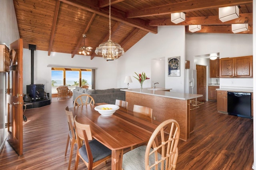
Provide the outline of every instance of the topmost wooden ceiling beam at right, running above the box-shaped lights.
[[191,12],[196,10],[207,10],[225,6],[236,6],[252,3],[253,0],[188,0],[153,8],[130,11],[126,13],[126,18],[140,18],[148,16],[159,16],[174,12]]

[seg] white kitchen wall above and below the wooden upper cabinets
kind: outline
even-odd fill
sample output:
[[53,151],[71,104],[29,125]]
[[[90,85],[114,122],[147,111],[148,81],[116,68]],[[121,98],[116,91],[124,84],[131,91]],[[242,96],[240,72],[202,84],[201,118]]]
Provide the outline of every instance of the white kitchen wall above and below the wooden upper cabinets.
[[[186,33],[186,60],[195,66],[194,56],[220,53],[220,59],[252,55],[251,34]],[[242,81],[241,81],[242,80]],[[220,78],[220,88],[253,87],[253,78]]]

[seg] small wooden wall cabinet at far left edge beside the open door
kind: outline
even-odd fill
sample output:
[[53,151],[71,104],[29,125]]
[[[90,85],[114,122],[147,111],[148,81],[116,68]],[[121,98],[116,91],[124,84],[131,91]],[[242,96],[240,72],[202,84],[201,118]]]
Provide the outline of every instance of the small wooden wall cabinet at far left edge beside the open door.
[[0,72],[8,72],[9,65],[9,49],[6,45],[0,45]]

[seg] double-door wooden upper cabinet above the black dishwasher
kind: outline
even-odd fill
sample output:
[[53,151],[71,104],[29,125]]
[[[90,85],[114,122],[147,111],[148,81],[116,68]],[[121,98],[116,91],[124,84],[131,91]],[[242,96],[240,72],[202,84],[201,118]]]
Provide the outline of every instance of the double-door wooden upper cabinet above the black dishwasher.
[[252,55],[220,59],[220,77],[252,77]]

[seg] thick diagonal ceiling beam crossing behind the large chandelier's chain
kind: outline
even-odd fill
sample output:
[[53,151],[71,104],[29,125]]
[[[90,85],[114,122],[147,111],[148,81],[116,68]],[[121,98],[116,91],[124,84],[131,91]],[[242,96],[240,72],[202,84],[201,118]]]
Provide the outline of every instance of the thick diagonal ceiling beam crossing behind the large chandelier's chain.
[[[60,0],[61,2],[64,2],[66,4],[72,5],[72,6],[76,6],[78,8],[81,8],[83,10],[98,14],[100,16],[104,16],[106,18],[109,17],[108,11],[104,11],[101,8],[95,7],[95,6],[90,6],[89,3],[84,2],[84,1],[76,1],[76,0]],[[140,28],[144,31],[147,32],[151,32],[151,33],[157,33],[158,29],[157,27],[150,27],[147,25],[146,21],[140,19],[140,18],[136,18],[136,19],[128,19],[125,18],[124,14],[119,12],[119,14],[117,13],[112,13],[111,11],[111,19],[115,20],[115,21],[119,21],[122,23],[125,23],[127,25],[130,25],[132,27],[137,27]]]

